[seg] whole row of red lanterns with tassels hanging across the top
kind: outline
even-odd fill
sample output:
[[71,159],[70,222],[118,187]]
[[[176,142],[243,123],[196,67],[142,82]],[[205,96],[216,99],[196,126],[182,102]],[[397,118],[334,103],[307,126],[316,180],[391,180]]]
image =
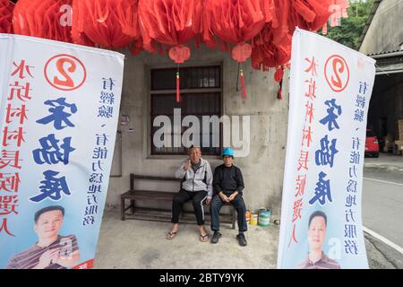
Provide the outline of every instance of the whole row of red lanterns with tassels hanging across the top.
[[275,68],[281,86],[296,26],[318,30],[330,14],[333,25],[346,9],[347,0],[19,0],[14,9],[9,0],[0,0],[0,31],[13,28],[17,34],[92,47],[128,47],[134,55],[143,49],[163,54],[165,46],[178,64],[176,100],[179,64],[191,55],[185,44],[217,48],[219,43],[239,63],[246,98],[242,64],[249,57],[254,69]]

